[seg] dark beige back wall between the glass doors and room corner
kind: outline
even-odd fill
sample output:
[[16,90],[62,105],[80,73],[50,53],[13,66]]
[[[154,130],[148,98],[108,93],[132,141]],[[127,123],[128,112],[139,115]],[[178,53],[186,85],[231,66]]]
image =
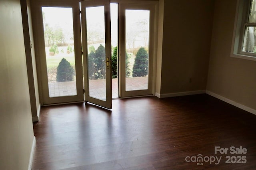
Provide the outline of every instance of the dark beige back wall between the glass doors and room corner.
[[206,89],[213,11],[214,0],[164,1],[161,95]]

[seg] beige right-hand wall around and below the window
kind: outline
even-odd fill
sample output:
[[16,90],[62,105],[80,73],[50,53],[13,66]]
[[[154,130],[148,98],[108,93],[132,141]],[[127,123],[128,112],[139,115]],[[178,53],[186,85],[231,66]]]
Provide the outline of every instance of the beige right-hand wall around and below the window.
[[230,57],[236,0],[216,0],[207,90],[256,109],[256,61]]

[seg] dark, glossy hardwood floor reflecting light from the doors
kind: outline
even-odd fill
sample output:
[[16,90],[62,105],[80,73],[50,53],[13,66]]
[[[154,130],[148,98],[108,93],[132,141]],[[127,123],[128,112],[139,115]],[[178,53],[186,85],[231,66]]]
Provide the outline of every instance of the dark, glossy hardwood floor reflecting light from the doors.
[[256,169],[256,115],[206,94],[42,107],[34,135],[33,170]]

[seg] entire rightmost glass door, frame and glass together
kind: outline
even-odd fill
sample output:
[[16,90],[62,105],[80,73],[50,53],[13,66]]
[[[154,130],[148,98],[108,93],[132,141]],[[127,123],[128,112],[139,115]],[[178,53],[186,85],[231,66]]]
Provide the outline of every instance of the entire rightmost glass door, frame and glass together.
[[120,97],[153,94],[154,4],[120,4]]

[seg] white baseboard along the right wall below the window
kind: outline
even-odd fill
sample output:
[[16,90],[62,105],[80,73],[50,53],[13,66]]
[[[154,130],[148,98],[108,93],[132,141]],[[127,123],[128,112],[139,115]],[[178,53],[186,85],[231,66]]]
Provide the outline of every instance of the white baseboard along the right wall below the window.
[[222,101],[224,101],[224,102],[226,102],[226,103],[229,103],[230,105],[233,105],[233,106],[235,106],[235,107],[238,107],[238,108],[240,108],[240,109],[243,109],[244,111],[248,111],[248,112],[250,112],[250,113],[256,115],[256,110],[255,110],[255,109],[252,109],[252,108],[247,107],[247,106],[245,106],[245,105],[242,105],[242,104],[240,104],[240,103],[236,103],[235,101],[232,101],[232,100],[230,100],[230,99],[227,99],[226,97],[222,97],[222,96],[220,96],[220,95],[217,95],[216,93],[213,93],[213,92],[208,91],[208,90],[206,90],[206,94],[211,95],[212,97],[215,97],[215,98],[217,98],[217,99],[220,99],[220,100],[222,100]]

